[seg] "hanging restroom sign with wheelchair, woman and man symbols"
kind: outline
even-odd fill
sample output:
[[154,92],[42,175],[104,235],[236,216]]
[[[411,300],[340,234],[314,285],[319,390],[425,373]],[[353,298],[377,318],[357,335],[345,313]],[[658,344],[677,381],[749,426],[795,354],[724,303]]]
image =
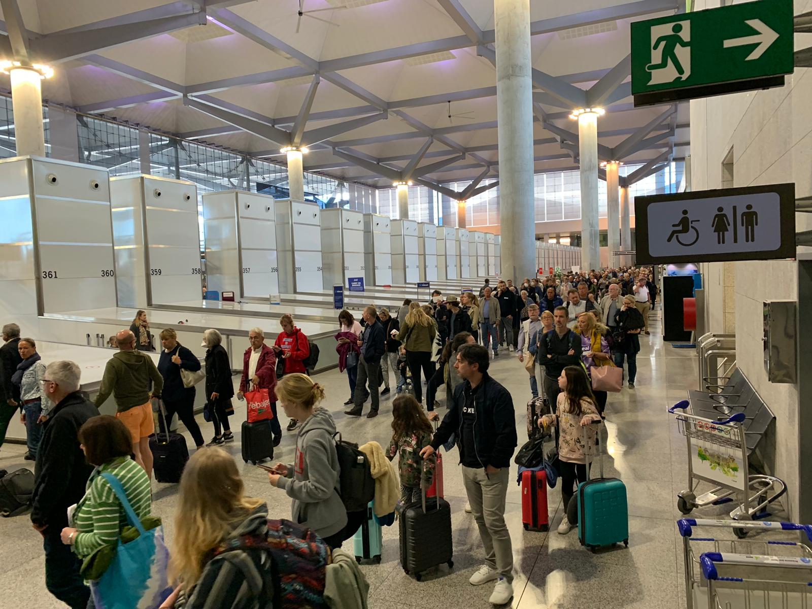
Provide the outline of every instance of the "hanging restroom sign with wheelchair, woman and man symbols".
[[637,262],[795,257],[795,184],[635,197]]

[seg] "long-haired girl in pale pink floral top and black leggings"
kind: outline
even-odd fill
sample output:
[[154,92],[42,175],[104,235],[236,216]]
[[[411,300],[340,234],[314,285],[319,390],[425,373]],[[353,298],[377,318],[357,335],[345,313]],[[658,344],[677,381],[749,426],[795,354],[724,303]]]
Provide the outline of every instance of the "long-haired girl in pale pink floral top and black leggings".
[[[579,483],[586,482],[586,454],[584,435],[581,427],[593,421],[600,421],[601,416],[596,408],[596,400],[581,366],[567,366],[559,376],[561,393],[555,405],[555,414],[546,414],[538,420],[543,427],[558,425],[559,428],[559,473],[561,476],[561,498],[564,500],[564,512],[575,491],[576,478]],[[595,441],[595,432],[587,434],[587,442]],[[572,526],[564,516],[558,527],[562,535],[569,533]]]

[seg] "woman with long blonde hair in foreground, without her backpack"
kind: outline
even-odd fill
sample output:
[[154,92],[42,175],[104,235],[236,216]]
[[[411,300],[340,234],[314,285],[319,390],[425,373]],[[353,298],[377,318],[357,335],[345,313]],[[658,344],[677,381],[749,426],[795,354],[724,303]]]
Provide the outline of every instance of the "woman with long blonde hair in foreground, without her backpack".
[[[180,478],[170,575],[175,592],[162,607],[266,607],[260,557],[219,554],[230,540],[268,532],[268,506],[246,497],[234,457],[220,448],[197,451]],[[273,594],[271,591],[270,594]]]

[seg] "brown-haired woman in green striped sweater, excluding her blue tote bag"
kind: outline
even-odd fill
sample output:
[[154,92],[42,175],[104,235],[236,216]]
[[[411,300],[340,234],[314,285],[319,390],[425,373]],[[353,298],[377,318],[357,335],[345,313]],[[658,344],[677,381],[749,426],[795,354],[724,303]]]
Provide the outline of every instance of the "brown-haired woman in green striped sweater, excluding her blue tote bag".
[[144,468],[130,457],[130,432],[119,419],[109,415],[89,419],[79,430],[79,441],[84,458],[96,469],[70,517],[71,526],[62,531],[62,542],[84,559],[100,547],[117,544],[127,525],[119,499],[101,474],[110,473],[121,482],[140,520],[150,514],[152,487]]

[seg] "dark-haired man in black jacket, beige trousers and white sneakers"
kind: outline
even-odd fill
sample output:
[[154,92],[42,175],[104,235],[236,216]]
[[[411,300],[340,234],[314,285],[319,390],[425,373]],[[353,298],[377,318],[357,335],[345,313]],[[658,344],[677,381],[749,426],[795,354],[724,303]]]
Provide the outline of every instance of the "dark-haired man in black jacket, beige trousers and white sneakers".
[[465,493],[485,546],[486,564],[469,581],[482,585],[496,580],[490,603],[503,605],[513,596],[513,551],[504,512],[516,450],[516,415],[508,390],[490,378],[489,364],[482,345],[464,345],[457,352],[454,367],[464,382],[421,456],[433,455],[456,434]]

